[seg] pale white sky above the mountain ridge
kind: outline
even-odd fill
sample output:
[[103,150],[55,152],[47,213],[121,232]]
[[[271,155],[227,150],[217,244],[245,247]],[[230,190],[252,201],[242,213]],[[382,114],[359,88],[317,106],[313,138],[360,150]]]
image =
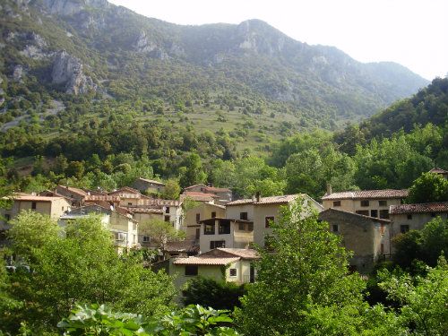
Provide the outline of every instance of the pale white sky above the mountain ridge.
[[177,24],[260,19],[359,62],[396,62],[430,81],[448,75],[448,0],[108,1]]

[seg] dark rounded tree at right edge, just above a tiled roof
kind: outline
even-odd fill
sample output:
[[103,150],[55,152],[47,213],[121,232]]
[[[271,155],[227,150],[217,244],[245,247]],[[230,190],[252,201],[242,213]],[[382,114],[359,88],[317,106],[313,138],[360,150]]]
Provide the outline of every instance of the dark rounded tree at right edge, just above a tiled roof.
[[439,174],[423,173],[409,188],[408,203],[448,201],[448,180]]

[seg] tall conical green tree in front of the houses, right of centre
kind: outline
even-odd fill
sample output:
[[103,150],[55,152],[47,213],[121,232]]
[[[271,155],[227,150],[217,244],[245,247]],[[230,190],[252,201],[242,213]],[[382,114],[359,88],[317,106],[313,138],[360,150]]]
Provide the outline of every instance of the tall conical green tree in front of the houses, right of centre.
[[279,223],[271,223],[271,228],[275,238],[269,245],[275,253],[259,248],[257,281],[237,311],[246,334],[310,334],[319,324],[314,323],[319,309],[336,314],[352,307],[358,314],[356,307],[365,306],[362,280],[347,273],[348,254],[340,247],[340,237],[317,220],[304,200],[283,208]]

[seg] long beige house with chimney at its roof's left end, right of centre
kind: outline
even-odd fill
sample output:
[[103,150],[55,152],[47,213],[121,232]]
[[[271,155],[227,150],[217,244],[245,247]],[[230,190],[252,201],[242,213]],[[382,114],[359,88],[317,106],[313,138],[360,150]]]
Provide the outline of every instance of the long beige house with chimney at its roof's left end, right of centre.
[[327,193],[323,195],[323,209],[337,209],[358,213],[360,215],[389,219],[389,207],[402,204],[408,196],[408,190],[358,190],[332,193],[329,185]]

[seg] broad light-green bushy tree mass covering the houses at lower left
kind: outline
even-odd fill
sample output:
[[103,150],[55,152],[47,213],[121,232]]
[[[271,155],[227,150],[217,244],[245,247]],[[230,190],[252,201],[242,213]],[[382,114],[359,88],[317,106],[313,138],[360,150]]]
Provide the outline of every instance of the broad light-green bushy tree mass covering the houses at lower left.
[[148,315],[174,306],[176,289],[168,275],[143,268],[138,258],[118,255],[99,218],[74,220],[61,232],[55,220],[25,213],[14,221],[11,238],[13,252],[33,270],[12,275],[13,297],[24,302],[9,316],[12,332],[20,322],[56,326],[80,302]]

